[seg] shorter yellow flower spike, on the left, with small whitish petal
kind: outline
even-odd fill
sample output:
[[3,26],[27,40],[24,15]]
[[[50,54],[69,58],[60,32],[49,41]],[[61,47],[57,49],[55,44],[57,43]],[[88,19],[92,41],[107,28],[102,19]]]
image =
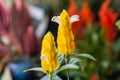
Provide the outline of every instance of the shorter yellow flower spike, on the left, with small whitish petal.
[[48,32],[42,41],[41,66],[43,72],[54,72],[58,66],[54,37]]

